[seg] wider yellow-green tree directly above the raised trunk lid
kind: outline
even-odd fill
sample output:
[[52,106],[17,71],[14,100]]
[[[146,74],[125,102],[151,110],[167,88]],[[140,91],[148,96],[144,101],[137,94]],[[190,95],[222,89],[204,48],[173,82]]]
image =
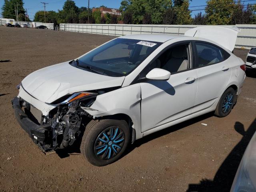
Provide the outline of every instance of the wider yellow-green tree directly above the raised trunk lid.
[[207,24],[227,25],[234,9],[234,0],[208,0],[206,6]]

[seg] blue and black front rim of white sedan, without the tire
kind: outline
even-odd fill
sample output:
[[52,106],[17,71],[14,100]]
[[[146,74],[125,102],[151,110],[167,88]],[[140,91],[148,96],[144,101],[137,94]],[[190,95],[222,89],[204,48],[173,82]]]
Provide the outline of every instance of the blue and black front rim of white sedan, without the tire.
[[111,159],[122,150],[124,141],[122,129],[117,126],[108,127],[98,135],[94,143],[94,154],[102,160]]

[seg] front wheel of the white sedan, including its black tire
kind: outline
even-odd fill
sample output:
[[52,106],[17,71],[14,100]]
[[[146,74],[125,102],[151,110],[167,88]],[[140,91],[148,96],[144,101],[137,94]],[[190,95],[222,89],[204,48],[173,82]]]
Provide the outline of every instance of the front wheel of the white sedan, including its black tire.
[[125,120],[92,120],[86,126],[80,150],[91,164],[105,166],[120,158],[129,140],[130,130]]

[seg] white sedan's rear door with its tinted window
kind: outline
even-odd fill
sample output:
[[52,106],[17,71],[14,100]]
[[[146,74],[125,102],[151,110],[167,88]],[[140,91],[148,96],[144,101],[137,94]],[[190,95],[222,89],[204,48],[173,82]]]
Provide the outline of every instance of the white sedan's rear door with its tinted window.
[[196,41],[194,50],[198,89],[193,112],[197,112],[209,108],[220,97],[232,74],[232,65],[228,62],[230,54],[214,44]]

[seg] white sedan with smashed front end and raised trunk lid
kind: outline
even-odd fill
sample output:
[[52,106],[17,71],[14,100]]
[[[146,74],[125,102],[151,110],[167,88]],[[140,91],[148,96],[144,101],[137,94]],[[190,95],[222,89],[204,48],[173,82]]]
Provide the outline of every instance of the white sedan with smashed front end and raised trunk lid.
[[110,164],[143,136],[208,112],[230,113],[246,69],[232,54],[237,33],[206,26],[185,36],[115,38],[24,78],[12,100],[16,119],[44,152],[82,138],[91,164]]

